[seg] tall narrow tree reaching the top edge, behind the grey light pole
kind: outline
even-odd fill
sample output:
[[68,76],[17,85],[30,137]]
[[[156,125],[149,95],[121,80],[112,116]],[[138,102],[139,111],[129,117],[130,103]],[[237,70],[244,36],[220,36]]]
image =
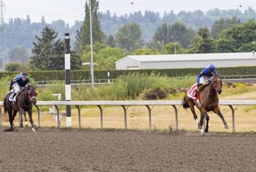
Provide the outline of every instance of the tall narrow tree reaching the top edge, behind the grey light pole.
[[[93,34],[93,44],[94,43],[103,43],[105,39],[105,35],[100,27],[100,13],[99,9],[99,1],[91,0],[91,19],[92,19],[92,34]],[[81,34],[80,36],[80,46],[81,50],[84,50],[86,45],[90,45],[90,9],[89,2],[86,0],[85,3],[85,17],[84,23],[82,23],[81,32],[77,32],[77,34]],[[77,35],[79,37],[79,35]]]

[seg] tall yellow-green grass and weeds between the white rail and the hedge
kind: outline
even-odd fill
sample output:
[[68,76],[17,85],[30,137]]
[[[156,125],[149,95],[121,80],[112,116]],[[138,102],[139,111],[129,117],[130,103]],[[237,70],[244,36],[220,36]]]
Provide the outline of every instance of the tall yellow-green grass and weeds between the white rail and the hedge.
[[[183,79],[168,78],[159,74],[128,74],[120,76],[115,83],[99,85],[98,87],[86,87],[79,85],[71,89],[72,100],[136,100],[140,94],[152,88],[181,89],[192,85],[195,79],[187,77]],[[38,100],[57,100],[52,94],[62,94],[65,100],[64,83],[55,82],[53,85],[39,89]]]

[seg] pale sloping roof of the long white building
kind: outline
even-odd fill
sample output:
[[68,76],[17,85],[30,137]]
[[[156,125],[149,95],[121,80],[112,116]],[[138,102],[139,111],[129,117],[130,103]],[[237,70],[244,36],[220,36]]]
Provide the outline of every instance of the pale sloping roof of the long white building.
[[[208,53],[208,54],[160,54],[160,55],[132,55],[125,58],[134,58],[142,62],[158,61],[211,61],[211,60],[235,60],[235,59],[256,59],[253,52],[235,52],[235,53]],[[116,61],[118,63],[119,61]]]

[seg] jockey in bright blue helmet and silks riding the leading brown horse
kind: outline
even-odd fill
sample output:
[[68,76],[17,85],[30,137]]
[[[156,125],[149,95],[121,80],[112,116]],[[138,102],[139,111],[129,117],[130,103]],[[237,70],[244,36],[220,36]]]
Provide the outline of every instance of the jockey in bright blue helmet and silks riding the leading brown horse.
[[[205,85],[207,84],[210,80],[212,80],[212,76],[217,75],[218,72],[215,69],[215,66],[212,65],[212,63],[210,63],[210,65],[208,67],[205,67],[202,72],[200,72],[197,77],[196,77],[196,83],[197,83],[197,88],[200,85]],[[205,82],[207,81],[207,82]],[[197,89],[196,89],[197,92]],[[194,95],[196,95],[196,92],[194,93]]]

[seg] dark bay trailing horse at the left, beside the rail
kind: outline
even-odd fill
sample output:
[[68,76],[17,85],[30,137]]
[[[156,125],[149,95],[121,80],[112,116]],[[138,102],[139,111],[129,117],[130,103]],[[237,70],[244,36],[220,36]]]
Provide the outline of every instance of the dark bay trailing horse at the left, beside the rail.
[[32,87],[32,85],[23,87],[21,88],[21,92],[17,94],[16,102],[12,102],[9,100],[9,97],[11,94],[12,92],[9,92],[8,94],[6,94],[6,97],[3,100],[4,111],[8,112],[9,122],[10,122],[10,129],[6,129],[5,131],[13,131],[14,129],[13,120],[15,120],[15,116],[17,115],[18,111],[21,115],[24,114],[26,111],[28,112],[32,130],[35,131],[34,122],[32,119],[32,110],[33,110],[33,105],[37,103],[37,98],[36,98],[37,92]]

